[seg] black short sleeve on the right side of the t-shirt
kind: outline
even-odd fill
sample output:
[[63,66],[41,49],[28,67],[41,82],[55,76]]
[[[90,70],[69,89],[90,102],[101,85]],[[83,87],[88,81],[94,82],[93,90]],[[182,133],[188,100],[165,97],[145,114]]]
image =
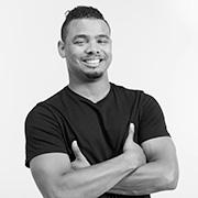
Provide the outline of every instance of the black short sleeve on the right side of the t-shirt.
[[140,143],[158,136],[169,136],[163,111],[152,96],[143,94],[140,114],[138,135]]

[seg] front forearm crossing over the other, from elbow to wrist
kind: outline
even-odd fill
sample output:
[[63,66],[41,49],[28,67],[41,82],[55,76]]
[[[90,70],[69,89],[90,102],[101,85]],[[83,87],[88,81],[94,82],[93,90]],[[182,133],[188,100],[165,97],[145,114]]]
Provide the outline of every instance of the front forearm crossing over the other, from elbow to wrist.
[[100,164],[65,173],[58,184],[58,194],[61,197],[74,198],[99,197],[134,170],[124,157],[121,154]]

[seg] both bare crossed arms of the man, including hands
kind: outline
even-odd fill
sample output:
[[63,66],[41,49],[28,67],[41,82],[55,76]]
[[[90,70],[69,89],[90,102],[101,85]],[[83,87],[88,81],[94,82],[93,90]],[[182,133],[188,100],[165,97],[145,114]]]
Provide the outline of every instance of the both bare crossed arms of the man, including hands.
[[105,193],[146,195],[174,189],[178,180],[176,151],[170,138],[156,138],[139,146],[133,142],[131,124],[123,153],[90,165],[77,142],[76,160],[67,154],[50,153],[34,157],[31,172],[44,198],[97,198]]

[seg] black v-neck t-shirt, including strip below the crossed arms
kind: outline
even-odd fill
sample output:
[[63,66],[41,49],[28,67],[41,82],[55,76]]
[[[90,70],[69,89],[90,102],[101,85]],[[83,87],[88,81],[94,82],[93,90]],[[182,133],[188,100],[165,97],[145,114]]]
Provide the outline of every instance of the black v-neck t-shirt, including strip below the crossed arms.
[[[139,144],[169,135],[161,107],[153,97],[141,90],[110,85],[108,95],[96,103],[68,86],[37,103],[25,120],[26,167],[33,157],[52,152],[67,153],[74,161],[74,140],[91,165],[118,156],[122,153],[131,122],[135,125],[134,140]],[[105,194],[101,197],[150,196]]]

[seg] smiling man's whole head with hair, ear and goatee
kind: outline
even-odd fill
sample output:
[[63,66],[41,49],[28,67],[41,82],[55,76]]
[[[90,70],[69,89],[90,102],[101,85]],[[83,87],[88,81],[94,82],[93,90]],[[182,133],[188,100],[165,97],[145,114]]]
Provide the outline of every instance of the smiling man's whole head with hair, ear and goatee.
[[67,61],[70,79],[90,81],[107,76],[111,63],[109,24],[97,9],[75,8],[62,26],[58,51]]

